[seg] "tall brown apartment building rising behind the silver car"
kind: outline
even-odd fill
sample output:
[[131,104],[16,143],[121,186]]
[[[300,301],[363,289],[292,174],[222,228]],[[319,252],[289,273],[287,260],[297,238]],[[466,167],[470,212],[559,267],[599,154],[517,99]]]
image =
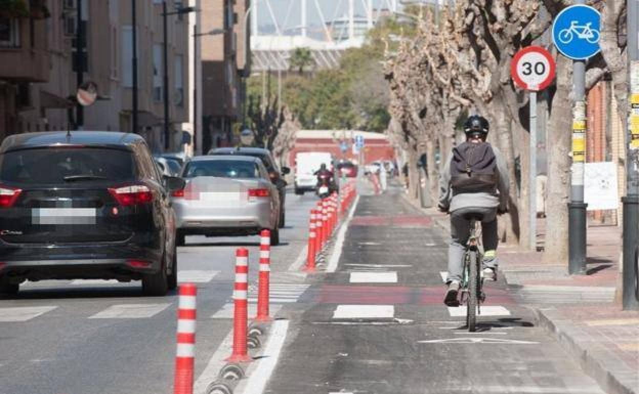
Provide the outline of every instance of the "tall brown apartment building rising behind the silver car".
[[233,144],[233,125],[242,121],[243,78],[248,75],[248,0],[201,1],[202,148]]

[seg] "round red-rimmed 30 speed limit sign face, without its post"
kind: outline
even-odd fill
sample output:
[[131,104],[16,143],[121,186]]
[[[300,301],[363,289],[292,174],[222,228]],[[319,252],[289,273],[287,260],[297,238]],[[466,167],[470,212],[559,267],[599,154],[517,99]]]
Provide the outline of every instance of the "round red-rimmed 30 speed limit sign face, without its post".
[[512,57],[511,75],[521,89],[543,90],[555,78],[555,61],[542,47],[526,47]]

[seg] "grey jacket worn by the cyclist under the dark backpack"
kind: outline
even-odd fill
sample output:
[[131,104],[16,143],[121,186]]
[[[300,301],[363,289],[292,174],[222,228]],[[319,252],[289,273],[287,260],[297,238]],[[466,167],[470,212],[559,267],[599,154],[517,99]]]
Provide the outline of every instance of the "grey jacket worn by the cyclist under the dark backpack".
[[450,188],[450,162],[452,155],[449,155],[446,165],[440,174],[439,204],[452,212],[459,208],[499,208],[505,211],[508,208],[508,195],[510,180],[508,178],[508,167],[504,162],[504,156],[495,146],[491,146],[497,161],[497,190],[493,193],[459,193],[454,194]]

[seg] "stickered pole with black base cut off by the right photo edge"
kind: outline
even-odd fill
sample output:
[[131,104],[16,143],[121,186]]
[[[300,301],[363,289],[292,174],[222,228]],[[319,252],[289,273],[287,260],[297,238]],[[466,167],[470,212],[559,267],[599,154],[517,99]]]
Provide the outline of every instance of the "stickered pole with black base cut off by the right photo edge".
[[629,72],[629,121],[626,133],[626,197],[623,228],[623,310],[639,310],[636,253],[639,248],[639,0],[627,3],[627,50]]

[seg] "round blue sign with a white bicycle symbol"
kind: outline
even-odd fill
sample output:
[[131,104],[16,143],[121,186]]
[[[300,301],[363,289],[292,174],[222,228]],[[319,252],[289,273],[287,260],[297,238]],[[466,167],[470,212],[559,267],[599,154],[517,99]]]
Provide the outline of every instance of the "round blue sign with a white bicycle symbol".
[[553,22],[557,50],[573,60],[586,60],[599,53],[601,14],[591,6],[576,4],[562,10]]

